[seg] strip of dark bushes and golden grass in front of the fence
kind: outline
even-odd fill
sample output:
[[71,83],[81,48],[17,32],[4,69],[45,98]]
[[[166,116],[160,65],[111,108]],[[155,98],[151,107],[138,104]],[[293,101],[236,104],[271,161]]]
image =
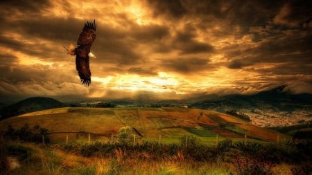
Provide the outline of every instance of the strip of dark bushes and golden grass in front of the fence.
[[[42,145],[1,140],[0,174],[309,174],[311,143],[227,139],[210,147],[196,142]],[[10,169],[8,157],[17,158],[20,166]]]

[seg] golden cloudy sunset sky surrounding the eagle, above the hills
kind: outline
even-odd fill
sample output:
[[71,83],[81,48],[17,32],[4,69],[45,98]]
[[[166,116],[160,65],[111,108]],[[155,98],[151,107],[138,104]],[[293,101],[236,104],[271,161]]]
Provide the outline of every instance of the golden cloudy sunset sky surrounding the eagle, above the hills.
[[[5,0],[0,2],[1,99],[159,99],[252,94],[286,84],[312,93],[312,1]],[[75,57],[96,19],[92,82]]]

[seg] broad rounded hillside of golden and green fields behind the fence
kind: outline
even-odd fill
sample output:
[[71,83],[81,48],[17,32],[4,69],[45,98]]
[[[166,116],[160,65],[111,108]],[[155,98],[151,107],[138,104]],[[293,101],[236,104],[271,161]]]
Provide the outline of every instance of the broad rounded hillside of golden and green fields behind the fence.
[[[83,108],[67,107],[47,109],[0,121],[0,128],[7,129],[12,125],[15,129],[28,123],[29,127],[40,125],[49,129],[49,137],[53,142],[76,139],[76,133],[55,132],[87,132],[96,133],[98,138],[109,140],[116,136],[121,127],[130,126],[135,129],[139,140],[162,142],[179,142],[183,136],[193,136],[207,144],[215,143],[216,138],[248,138],[266,141],[288,140],[289,137],[273,131],[251,125],[239,118],[200,109],[166,108]],[[65,135],[66,134],[66,135]]]

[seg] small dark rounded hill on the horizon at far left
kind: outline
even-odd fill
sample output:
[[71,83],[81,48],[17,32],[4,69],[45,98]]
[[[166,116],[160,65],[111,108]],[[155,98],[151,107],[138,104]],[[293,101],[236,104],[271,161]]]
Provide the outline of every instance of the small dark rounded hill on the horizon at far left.
[[33,111],[41,111],[44,109],[53,109],[58,107],[64,107],[65,105],[53,98],[27,98],[21,100],[15,104],[11,104],[8,107],[4,107],[0,110],[0,120],[9,118],[12,116],[19,116],[23,113],[30,113]]

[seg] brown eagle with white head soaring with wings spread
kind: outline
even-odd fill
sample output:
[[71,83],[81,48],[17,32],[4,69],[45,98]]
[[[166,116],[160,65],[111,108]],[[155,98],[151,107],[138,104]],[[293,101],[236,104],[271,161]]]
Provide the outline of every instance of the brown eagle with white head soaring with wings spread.
[[93,23],[87,21],[80,33],[77,41],[77,47],[71,44],[65,51],[69,55],[76,55],[76,69],[83,84],[89,86],[91,83],[91,71],[89,67],[89,57],[96,58],[90,50],[92,43],[96,39],[96,21]]

